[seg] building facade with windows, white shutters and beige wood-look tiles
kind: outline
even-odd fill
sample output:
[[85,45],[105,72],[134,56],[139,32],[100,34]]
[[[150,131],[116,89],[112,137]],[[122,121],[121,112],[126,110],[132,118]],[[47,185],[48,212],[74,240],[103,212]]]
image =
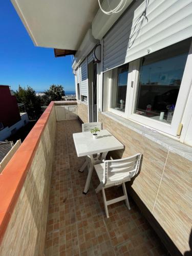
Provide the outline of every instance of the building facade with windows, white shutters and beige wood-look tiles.
[[133,1],[107,31],[99,10],[72,66],[79,118],[125,145],[115,157],[142,153],[130,193],[181,253],[192,221],[191,10],[191,1]]

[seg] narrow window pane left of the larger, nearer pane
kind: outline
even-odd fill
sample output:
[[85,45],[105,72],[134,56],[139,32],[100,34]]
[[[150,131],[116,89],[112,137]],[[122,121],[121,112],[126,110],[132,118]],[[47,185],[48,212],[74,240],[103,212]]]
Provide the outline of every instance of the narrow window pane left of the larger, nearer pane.
[[111,108],[125,112],[126,88],[129,65],[113,70]]

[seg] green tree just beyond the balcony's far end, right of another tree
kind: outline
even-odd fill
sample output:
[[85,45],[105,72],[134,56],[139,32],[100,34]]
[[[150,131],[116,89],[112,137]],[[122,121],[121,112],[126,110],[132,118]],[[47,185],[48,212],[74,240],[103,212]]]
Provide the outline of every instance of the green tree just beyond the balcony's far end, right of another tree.
[[63,87],[59,85],[56,86],[55,84],[52,84],[49,90],[45,91],[44,93],[45,95],[43,95],[41,99],[42,103],[46,106],[49,105],[52,100],[61,100],[62,96],[65,96]]

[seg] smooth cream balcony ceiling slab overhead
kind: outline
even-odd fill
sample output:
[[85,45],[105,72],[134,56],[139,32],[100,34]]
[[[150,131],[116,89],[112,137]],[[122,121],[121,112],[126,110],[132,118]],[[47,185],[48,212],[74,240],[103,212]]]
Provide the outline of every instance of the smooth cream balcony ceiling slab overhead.
[[11,0],[35,46],[78,50],[97,13],[96,0]]

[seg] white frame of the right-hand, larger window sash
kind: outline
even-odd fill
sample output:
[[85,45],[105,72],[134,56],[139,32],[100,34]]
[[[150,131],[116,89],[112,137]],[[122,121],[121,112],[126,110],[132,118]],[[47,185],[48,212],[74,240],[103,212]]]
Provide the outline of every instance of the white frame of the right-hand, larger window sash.
[[[132,75],[131,79],[129,79],[128,88],[130,91],[130,100],[129,100],[129,113],[128,118],[134,121],[137,121],[139,123],[142,123],[144,125],[150,126],[153,129],[159,130],[161,132],[167,133],[169,135],[176,136],[178,126],[181,123],[183,112],[185,109],[186,101],[188,98],[188,94],[190,91],[191,86],[191,67],[192,67],[192,42],[190,44],[189,53],[186,60],[185,69],[183,72],[183,78],[181,81],[181,86],[179,89],[179,94],[176,102],[176,107],[172,119],[172,123],[168,124],[162,121],[154,120],[152,118],[148,118],[145,116],[138,115],[134,113],[135,110],[135,103],[136,103],[136,92],[138,87],[138,79],[139,79],[139,69],[140,69],[140,60],[135,60],[130,65],[132,68]],[[133,87],[131,87],[131,83],[134,84]],[[179,104],[178,104],[179,102]]]

